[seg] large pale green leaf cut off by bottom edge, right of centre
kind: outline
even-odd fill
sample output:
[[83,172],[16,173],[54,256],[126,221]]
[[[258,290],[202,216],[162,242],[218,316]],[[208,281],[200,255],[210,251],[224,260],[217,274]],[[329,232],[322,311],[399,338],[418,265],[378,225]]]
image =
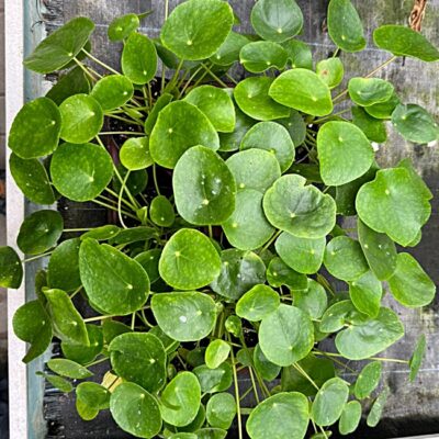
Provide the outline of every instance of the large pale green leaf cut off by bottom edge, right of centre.
[[247,432],[251,439],[303,439],[309,423],[308,401],[297,392],[278,393],[250,414]]

